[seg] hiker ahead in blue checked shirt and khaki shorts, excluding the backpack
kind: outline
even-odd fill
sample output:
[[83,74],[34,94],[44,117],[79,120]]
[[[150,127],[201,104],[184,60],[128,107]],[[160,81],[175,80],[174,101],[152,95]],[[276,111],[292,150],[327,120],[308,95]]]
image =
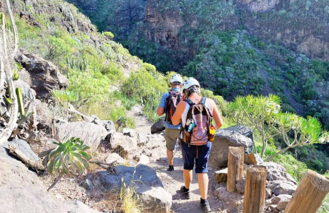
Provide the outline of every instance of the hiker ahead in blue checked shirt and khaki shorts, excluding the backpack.
[[[170,79],[171,91],[181,92],[183,78],[179,74],[174,74]],[[162,95],[159,107],[157,109],[158,116],[162,116],[165,113],[169,92]],[[176,141],[180,138],[180,129],[181,124],[173,125],[171,122],[164,120],[164,139],[165,139],[165,146],[167,147],[167,158],[168,158],[168,165],[167,171],[174,170],[174,154],[173,150],[175,149]]]

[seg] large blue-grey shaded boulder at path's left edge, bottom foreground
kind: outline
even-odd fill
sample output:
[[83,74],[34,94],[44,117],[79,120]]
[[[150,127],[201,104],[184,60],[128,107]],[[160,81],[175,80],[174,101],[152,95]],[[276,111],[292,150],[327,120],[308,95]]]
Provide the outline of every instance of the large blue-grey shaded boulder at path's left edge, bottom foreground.
[[145,165],[136,167],[119,165],[116,169],[119,174],[110,174],[108,171],[99,172],[105,190],[120,191],[122,179],[126,187],[131,186],[140,195],[143,204],[149,208],[149,212],[170,212],[171,194],[164,189],[153,168]]

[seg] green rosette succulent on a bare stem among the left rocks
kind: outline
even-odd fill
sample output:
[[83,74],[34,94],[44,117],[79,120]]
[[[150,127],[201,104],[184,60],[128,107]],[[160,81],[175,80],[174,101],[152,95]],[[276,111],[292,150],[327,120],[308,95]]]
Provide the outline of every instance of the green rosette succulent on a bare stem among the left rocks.
[[58,173],[48,191],[55,187],[63,175],[78,177],[86,174],[91,159],[85,152],[89,146],[84,145],[79,138],[64,139],[62,142],[53,140],[53,143],[57,145],[56,148],[39,153],[39,157],[45,157],[42,164],[47,167],[47,173]]

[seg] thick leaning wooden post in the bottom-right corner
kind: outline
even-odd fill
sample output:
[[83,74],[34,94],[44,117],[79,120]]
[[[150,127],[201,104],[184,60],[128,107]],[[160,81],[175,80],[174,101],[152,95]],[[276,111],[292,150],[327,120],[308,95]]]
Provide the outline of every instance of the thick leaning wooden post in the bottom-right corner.
[[284,213],[316,213],[329,192],[329,178],[308,169]]

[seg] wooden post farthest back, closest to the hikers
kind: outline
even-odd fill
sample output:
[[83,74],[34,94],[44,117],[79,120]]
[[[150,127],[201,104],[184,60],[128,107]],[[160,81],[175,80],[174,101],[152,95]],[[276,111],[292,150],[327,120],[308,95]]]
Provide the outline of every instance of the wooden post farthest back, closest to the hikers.
[[245,149],[242,146],[228,147],[227,191],[236,191],[235,184],[244,175],[244,152]]

